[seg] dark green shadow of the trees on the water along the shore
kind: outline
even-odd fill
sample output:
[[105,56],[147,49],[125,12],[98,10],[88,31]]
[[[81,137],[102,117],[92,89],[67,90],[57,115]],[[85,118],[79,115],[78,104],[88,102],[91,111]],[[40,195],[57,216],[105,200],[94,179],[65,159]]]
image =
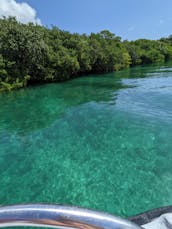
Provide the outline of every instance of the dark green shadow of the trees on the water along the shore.
[[72,107],[90,102],[115,104],[121,90],[139,86],[132,79],[162,76],[172,71],[169,66],[138,66],[0,94],[0,130],[27,134],[49,127]]

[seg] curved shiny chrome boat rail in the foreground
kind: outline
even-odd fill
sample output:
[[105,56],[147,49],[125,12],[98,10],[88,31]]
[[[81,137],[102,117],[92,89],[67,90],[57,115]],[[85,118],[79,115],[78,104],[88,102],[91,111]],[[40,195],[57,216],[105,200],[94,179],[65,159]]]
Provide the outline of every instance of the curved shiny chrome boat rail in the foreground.
[[0,207],[0,227],[39,226],[62,229],[141,229],[110,214],[61,205],[15,205]]

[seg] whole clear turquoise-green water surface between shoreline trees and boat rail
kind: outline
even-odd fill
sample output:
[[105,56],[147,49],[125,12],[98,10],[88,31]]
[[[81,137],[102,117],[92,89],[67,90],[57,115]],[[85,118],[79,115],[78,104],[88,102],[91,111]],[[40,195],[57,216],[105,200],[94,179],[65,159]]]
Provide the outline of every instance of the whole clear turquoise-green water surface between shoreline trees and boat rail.
[[127,216],[172,204],[172,68],[0,95],[0,204]]

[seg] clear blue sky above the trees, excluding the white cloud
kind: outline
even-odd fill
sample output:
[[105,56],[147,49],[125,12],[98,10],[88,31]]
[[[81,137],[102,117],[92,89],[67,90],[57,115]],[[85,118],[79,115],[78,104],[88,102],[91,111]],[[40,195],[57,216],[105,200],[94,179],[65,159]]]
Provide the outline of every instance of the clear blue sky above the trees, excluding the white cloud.
[[46,26],[78,33],[108,29],[123,39],[172,34],[172,0],[16,0],[27,2]]

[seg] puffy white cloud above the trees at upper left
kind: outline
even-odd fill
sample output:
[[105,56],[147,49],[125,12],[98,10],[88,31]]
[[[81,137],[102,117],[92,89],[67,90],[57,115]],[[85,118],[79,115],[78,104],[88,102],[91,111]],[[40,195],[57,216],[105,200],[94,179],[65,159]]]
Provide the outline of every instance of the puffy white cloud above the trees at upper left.
[[41,24],[41,20],[37,18],[36,10],[25,2],[17,3],[15,0],[0,0],[0,18],[3,16],[16,17],[22,23]]

